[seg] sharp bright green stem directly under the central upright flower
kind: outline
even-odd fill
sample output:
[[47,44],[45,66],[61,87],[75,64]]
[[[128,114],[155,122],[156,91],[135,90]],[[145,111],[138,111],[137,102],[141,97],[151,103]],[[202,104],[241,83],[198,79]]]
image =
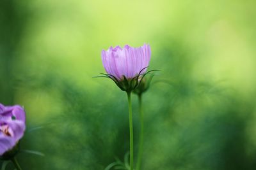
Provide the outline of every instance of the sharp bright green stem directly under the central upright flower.
[[132,103],[131,92],[127,92],[129,106],[129,127],[130,127],[130,167],[133,170],[133,129],[132,129]]

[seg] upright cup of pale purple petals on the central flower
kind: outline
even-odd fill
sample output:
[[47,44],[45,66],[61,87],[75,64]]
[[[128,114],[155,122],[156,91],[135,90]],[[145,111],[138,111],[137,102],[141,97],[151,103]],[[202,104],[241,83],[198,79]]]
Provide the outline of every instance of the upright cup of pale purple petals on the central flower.
[[106,72],[118,81],[125,78],[131,80],[139,74],[144,74],[147,71],[150,55],[150,46],[146,44],[138,48],[129,45],[125,45],[124,48],[111,46],[101,53]]

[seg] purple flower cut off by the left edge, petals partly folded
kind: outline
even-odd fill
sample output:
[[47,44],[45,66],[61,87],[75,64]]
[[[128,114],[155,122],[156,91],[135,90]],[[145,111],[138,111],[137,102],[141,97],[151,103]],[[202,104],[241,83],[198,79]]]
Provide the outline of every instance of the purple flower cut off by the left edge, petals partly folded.
[[22,138],[26,129],[25,121],[22,107],[0,103],[0,155],[11,150]]

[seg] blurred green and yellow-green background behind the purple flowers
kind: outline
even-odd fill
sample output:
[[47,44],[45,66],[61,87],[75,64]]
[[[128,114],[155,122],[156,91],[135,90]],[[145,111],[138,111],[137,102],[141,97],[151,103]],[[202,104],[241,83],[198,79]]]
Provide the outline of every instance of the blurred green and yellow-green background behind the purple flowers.
[[[0,0],[0,103],[27,113],[23,169],[101,170],[129,151],[100,52],[152,48],[145,170],[256,169],[256,2]],[[135,157],[138,100],[132,96]],[[43,127],[29,132],[29,129]],[[8,166],[10,169],[13,167]]]

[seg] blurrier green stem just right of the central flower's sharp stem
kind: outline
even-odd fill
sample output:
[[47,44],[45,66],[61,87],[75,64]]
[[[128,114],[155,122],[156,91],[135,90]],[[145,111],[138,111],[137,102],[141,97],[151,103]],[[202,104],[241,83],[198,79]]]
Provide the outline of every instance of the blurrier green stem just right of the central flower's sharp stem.
[[140,141],[139,141],[139,152],[136,169],[141,169],[141,159],[143,156],[143,138],[144,138],[144,120],[143,120],[143,110],[142,110],[142,99],[141,94],[138,95],[139,100],[139,111],[140,111]]

